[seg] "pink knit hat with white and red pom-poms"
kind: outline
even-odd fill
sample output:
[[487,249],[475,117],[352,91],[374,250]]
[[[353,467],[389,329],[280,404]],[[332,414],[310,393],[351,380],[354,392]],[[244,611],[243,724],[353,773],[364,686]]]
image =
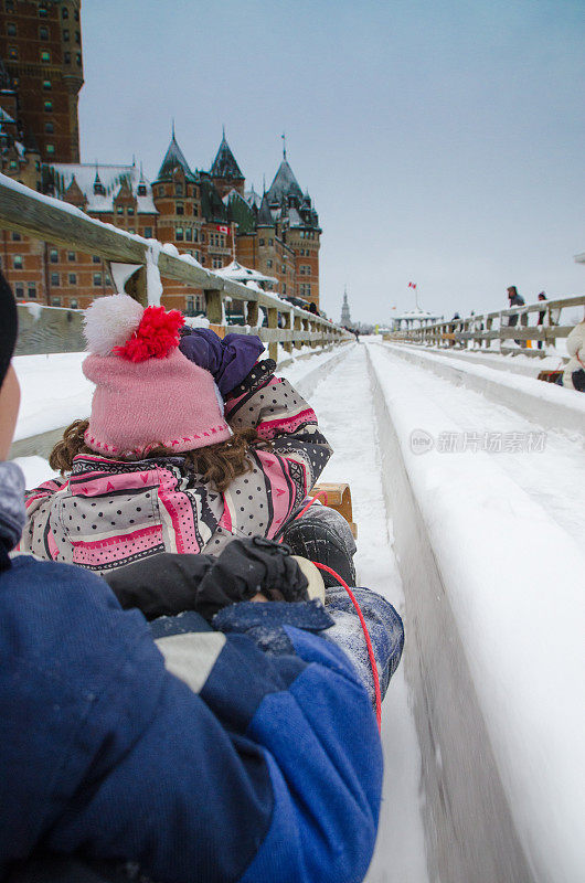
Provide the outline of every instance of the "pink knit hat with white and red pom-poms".
[[178,310],[143,309],[128,295],[98,298],[86,310],[92,450],[141,456],[163,445],[180,454],[231,437],[212,375],[178,349],[183,323]]

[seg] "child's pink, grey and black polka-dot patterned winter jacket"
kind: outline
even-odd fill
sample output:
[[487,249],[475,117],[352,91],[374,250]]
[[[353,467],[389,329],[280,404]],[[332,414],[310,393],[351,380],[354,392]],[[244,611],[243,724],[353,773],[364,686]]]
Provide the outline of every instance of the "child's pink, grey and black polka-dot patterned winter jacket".
[[331,456],[312,408],[275,363],[259,362],[225,402],[232,428],[255,427],[252,471],[224,493],[181,456],[135,462],[77,455],[67,479],[26,492],[20,550],[105,573],[158,552],[219,554],[234,538],[273,538]]

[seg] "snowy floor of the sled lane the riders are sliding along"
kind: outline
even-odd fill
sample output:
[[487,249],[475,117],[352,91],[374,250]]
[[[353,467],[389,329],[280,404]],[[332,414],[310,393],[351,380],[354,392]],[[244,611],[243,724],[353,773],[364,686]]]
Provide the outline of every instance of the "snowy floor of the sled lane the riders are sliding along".
[[[379,592],[402,611],[404,597],[383,497],[380,439],[364,348],[352,345],[317,385],[310,401],[333,447],[322,480],[347,481],[351,488],[358,524],[358,584]],[[376,849],[366,881],[428,883],[419,806],[421,755],[403,666],[390,683],[382,712],[384,791]]]

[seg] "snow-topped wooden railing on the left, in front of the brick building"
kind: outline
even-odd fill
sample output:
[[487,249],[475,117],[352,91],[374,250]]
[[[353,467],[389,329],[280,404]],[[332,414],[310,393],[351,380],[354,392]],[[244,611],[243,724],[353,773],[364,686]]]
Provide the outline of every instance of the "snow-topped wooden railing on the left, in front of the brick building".
[[[17,231],[25,236],[99,255],[110,264],[132,264],[137,269],[125,289],[142,304],[148,302],[148,268],[156,265],[160,276],[177,279],[205,297],[205,315],[210,323],[237,333],[254,333],[268,343],[270,358],[276,359],[277,345],[291,353],[294,348],[311,348],[352,340],[343,328],[294,307],[275,295],[248,288],[202,267],[190,255],[176,255],[164,245],[117,230],[86,215],[68,203],[35,193],[33,190],[0,174],[0,228]],[[111,275],[111,274],[110,274]],[[226,298],[245,304],[246,326],[226,326],[223,302]],[[267,326],[258,323],[258,308],[267,313]],[[284,328],[278,327],[280,313]],[[258,328],[257,326],[260,325]]]

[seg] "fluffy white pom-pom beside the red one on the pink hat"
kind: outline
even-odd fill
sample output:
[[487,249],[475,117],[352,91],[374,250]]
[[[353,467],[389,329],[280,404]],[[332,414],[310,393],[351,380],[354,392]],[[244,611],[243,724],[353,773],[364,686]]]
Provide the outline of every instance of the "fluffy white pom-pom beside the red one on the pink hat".
[[109,355],[121,347],[140,325],[143,307],[129,295],[99,297],[85,310],[87,349],[96,355]]

